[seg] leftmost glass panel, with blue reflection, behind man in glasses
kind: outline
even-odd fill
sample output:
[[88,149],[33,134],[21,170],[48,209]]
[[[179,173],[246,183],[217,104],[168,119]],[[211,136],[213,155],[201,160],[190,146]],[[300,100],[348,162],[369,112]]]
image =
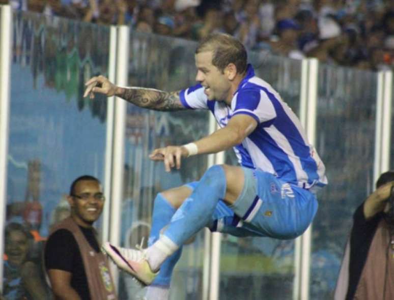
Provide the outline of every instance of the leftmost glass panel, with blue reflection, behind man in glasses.
[[[103,179],[106,101],[82,95],[86,79],[107,73],[109,30],[32,13],[13,17],[4,295],[45,299],[40,252],[51,226],[69,214],[70,184],[83,174]],[[41,279],[33,291],[21,281],[28,262]]]

